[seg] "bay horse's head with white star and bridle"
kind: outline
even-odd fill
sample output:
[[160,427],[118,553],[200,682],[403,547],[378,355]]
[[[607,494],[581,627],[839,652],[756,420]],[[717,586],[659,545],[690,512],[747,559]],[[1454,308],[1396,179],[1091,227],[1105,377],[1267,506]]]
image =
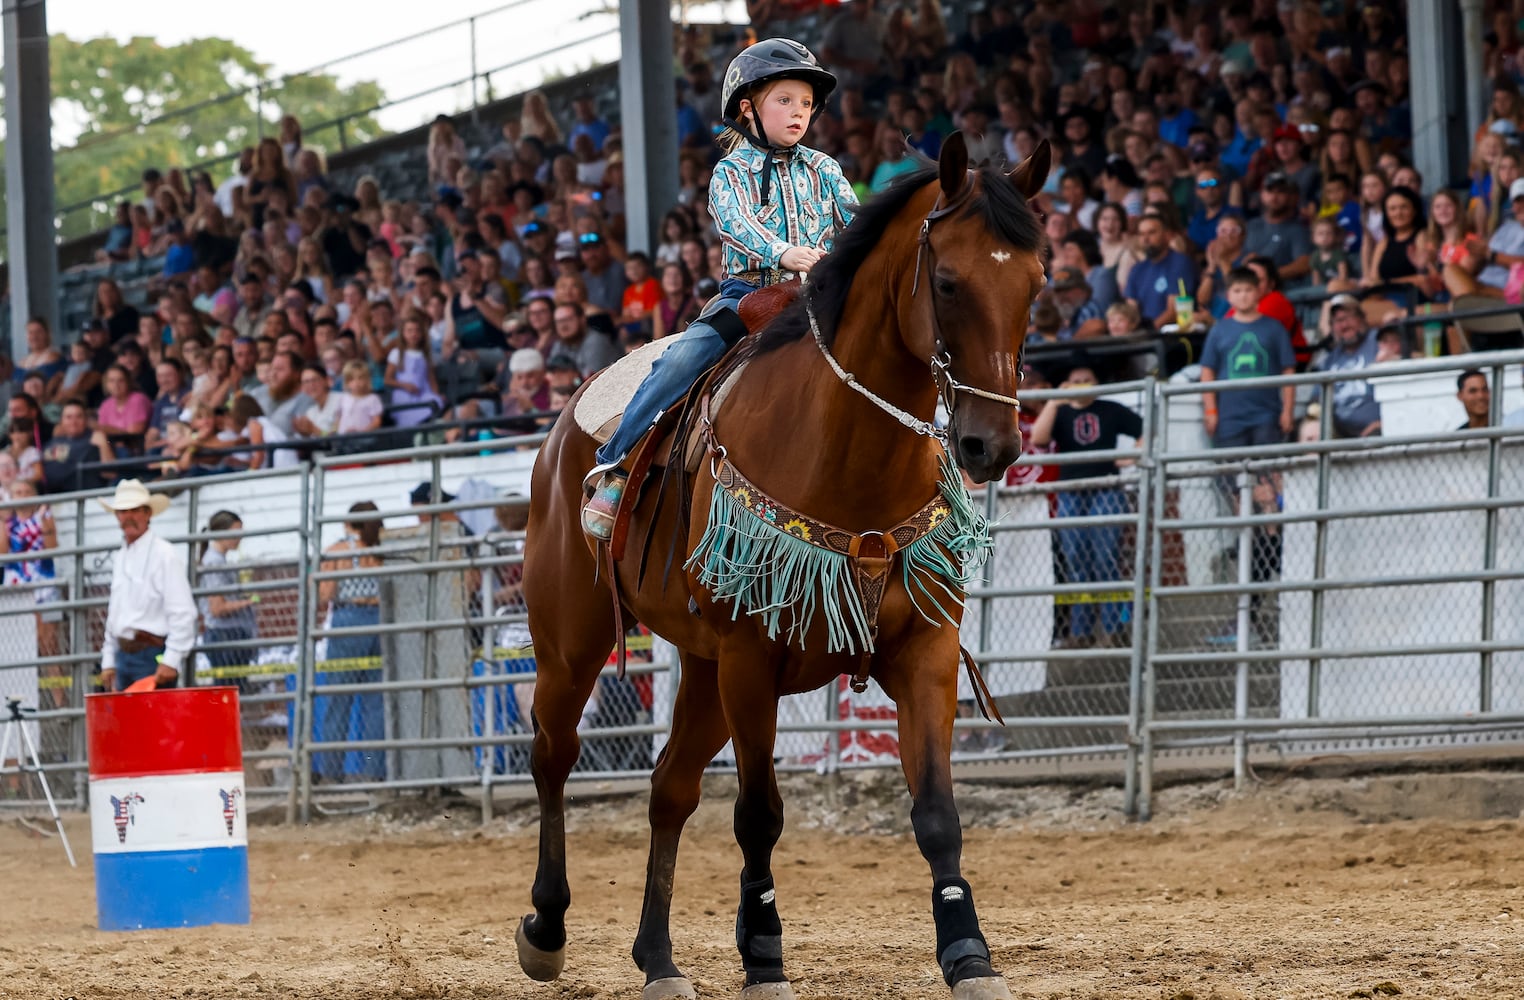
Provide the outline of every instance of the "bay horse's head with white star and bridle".
[[936,201],[920,224],[911,296],[901,299],[916,316],[901,326],[907,346],[931,358],[952,453],[980,483],[1003,476],[1021,454],[1021,345],[1045,282],[1042,227],[1027,198],[1042,189],[1049,157],[1044,140],[1009,174],[971,171],[963,136],[949,136]]

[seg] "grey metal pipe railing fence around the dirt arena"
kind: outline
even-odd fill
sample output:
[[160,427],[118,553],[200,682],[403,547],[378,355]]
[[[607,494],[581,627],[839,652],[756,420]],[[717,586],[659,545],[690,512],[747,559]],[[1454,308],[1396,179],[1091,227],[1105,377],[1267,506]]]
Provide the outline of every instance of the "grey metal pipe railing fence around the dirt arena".
[[[1501,387],[1524,352],[1361,377],[1445,380],[1478,361]],[[968,588],[962,628],[1009,726],[974,718],[972,692],[960,691],[954,755],[965,773],[1103,774],[1146,819],[1163,771],[1248,784],[1256,765],[1326,752],[1524,742],[1524,630],[1510,613],[1524,605],[1524,430],[1500,427],[1504,393],[1486,428],[1340,441],[1324,407],[1320,441],[1228,450],[1205,447],[1201,392],[1148,378],[1029,393],[1038,404],[1122,401],[1143,433],[1135,448],[1033,456],[1023,479],[1059,477],[986,489],[994,558]],[[515,596],[523,534],[475,518],[498,511],[512,524],[538,441],[376,453],[363,468],[319,454],[294,470],[174,485],[181,494],[157,530],[189,546],[236,537],[255,556],[232,567],[236,582],[190,570],[198,598],[259,601],[255,634],[203,634],[189,678],[241,686],[251,796],[299,819],[456,788],[479,794],[489,816],[497,788],[529,780],[535,660]],[[1120,459],[1106,477],[1062,477],[1079,462]],[[472,479],[488,488],[457,486]],[[462,495],[384,500],[415,482]],[[351,514],[357,498],[381,509]],[[73,780],[82,806],[82,694],[119,537],[94,494],[50,502],[58,546],[43,555],[55,578],[0,588],[0,688],[35,692],[44,768],[66,797]],[[0,515],[15,506],[0,505]],[[204,530],[224,506],[244,529]],[[398,527],[404,515],[424,524]],[[332,553],[344,524],[373,520],[389,530],[366,552],[372,559]],[[0,566],[37,555],[0,555]],[[372,596],[369,617],[338,611]],[[642,774],[660,750],[672,657],[660,640],[637,637],[634,648],[640,662],[626,678],[605,669],[599,681],[576,776]],[[898,765],[895,729],[876,688],[828,688],[785,701],[776,756],[821,773]]]

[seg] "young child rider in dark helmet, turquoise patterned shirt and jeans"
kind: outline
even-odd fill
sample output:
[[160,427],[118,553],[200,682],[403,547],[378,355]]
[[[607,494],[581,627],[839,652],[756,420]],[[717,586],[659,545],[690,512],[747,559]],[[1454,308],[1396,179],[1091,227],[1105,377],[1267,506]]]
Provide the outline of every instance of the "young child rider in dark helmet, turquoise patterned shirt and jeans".
[[719,136],[727,154],[709,183],[727,277],[719,299],[652,363],[614,436],[597,450],[585,480],[591,498],[582,508],[582,527],[591,537],[607,540],[613,532],[628,477],[620,463],[629,450],[745,335],[736,316],[742,296],[808,274],[831,248],[831,236],[852,221],[856,197],[841,166],[800,145],[835,85],[809,49],[788,38],[759,41],[730,62]]

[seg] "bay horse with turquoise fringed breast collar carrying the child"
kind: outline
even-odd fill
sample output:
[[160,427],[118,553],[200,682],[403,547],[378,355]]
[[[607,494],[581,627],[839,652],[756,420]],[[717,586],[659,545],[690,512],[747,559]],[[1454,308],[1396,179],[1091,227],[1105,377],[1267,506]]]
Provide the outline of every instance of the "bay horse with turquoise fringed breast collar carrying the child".
[[[777,703],[843,674],[863,684],[872,675],[895,701],[910,817],[931,866],[936,957],[952,997],[1010,995],[962,878],[952,802],[963,596],[952,555],[972,549],[936,527],[956,520],[948,514],[957,497],[972,511],[948,453],[975,482],[991,482],[1021,450],[1020,354],[1045,280],[1042,226],[1027,200],[1042,188],[1049,160],[1044,142],[1009,174],[969,169],[954,134],[936,165],[863,206],[800,300],[742,341],[747,366],[712,419],[704,405],[709,459],[686,486],[692,503],[657,503],[655,489],[640,497],[617,566],[602,544],[594,550],[579,521],[596,442],[572,415],[587,386],[556,421],[535,462],[524,547],[538,660],[539,860],[535,912],[515,941],[532,979],[553,980],[565,962],[564,790],[581,748],[578,720],[616,642],[613,566],[623,613],[672,642],[681,666],[671,735],[651,776],[651,854],[632,948],[646,977],[643,1000],[695,995],[672,960],[672,884],[701,776],[727,739],[744,863],[741,997],[794,995],[771,872],[783,829],[773,762]],[[948,409],[945,434],[933,428],[939,399]],[[762,524],[779,512],[796,517]],[[983,520],[972,517],[977,524],[963,534],[988,544]],[[910,523],[922,534],[904,530]],[[852,540],[850,556],[803,541],[832,530]],[[639,573],[648,541],[655,552],[677,544],[683,572]],[[785,558],[779,546],[786,544],[800,547]],[[888,572],[896,552],[904,567]],[[850,573],[841,569],[849,558]],[[866,591],[855,591],[853,579],[867,581]],[[838,607],[843,601],[852,607]]]

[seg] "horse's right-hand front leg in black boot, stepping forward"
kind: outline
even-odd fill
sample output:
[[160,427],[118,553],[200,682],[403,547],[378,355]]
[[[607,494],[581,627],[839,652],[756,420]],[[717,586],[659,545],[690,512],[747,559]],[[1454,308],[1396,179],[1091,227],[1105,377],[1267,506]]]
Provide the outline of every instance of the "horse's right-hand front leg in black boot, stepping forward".
[[931,866],[931,916],[937,965],[954,1000],[1007,1000],[1010,989],[991,965],[978,928],[974,890],[963,878],[963,828],[952,802],[952,720],[957,716],[957,633],[924,633],[875,663],[873,675],[899,713],[899,759],[910,784],[910,822],[920,855]]

